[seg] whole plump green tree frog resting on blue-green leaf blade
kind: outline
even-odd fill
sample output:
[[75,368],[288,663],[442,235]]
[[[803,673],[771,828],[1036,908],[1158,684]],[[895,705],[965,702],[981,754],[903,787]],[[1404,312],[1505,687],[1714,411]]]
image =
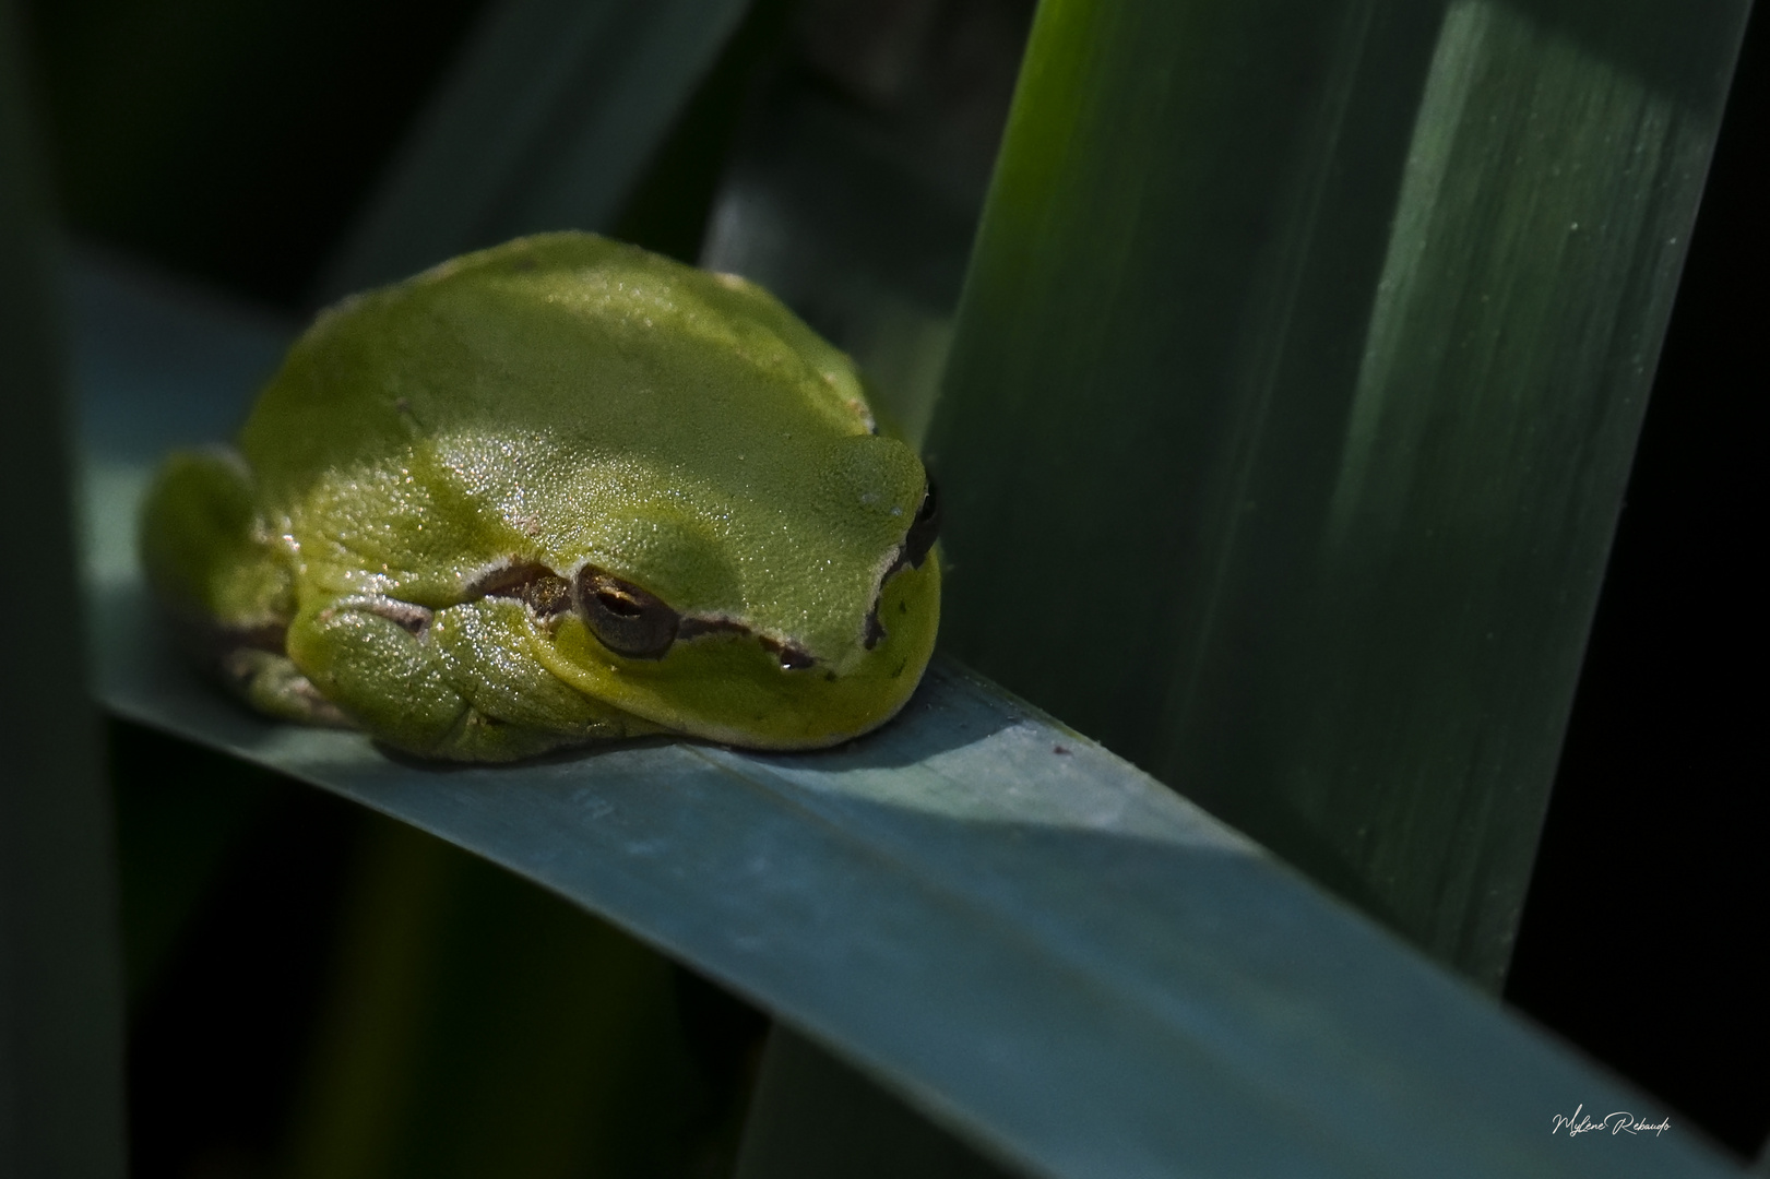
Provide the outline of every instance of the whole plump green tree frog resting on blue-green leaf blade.
[[[166,462],[142,551],[278,717],[453,759],[807,749],[887,720],[927,664],[926,494],[853,363],[765,290],[549,234],[324,312],[237,451]],[[598,570],[680,618],[660,657],[604,641]]]

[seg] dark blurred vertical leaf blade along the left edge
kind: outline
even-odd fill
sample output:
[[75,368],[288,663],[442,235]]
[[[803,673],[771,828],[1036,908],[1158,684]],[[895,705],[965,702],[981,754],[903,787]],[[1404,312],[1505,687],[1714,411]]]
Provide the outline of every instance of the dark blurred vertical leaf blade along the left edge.
[[120,1179],[122,979],[97,715],[78,671],[48,186],[0,0],[0,1175]]

